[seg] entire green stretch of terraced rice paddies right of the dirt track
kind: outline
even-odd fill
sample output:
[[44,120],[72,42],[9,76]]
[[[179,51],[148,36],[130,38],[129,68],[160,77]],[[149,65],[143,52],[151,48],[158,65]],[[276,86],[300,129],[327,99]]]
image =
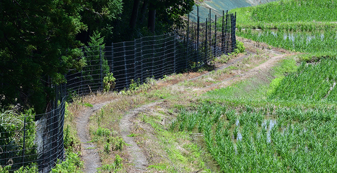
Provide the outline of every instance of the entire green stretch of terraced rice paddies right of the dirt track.
[[256,77],[207,92],[170,129],[202,134],[222,172],[337,172],[337,2],[231,12],[237,36],[297,55],[279,62],[268,84]]

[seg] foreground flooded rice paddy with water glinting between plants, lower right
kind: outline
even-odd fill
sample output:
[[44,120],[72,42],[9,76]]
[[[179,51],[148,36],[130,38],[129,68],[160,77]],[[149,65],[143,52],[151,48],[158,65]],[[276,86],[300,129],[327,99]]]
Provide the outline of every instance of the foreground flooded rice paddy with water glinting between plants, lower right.
[[197,132],[201,124],[205,145],[223,172],[335,171],[335,108],[235,109],[203,102],[195,111],[181,111],[178,120],[179,131]]

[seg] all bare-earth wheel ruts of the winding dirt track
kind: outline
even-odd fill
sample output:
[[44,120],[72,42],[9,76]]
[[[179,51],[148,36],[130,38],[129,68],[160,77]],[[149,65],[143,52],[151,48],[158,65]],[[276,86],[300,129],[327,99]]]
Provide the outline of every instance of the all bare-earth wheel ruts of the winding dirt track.
[[[231,83],[233,80],[241,80],[249,78],[255,74],[257,74],[259,71],[265,71],[270,69],[272,66],[274,66],[279,60],[283,59],[285,56],[290,55],[290,53],[281,53],[277,50],[273,51],[273,55],[269,57],[268,60],[264,61],[263,63],[259,64],[258,66],[247,70],[247,71],[241,71],[239,74],[232,75],[229,77],[226,77],[222,79],[221,82],[218,83],[211,83],[203,87],[197,87],[195,90],[199,91],[209,91],[213,90],[215,88],[221,88],[224,86],[227,86]],[[214,71],[225,69],[229,66],[232,66],[234,64],[242,62],[246,57],[250,55],[241,55],[239,57],[235,57],[234,59],[230,60],[229,63],[224,64]],[[205,77],[207,75],[210,75],[210,72],[207,72],[205,74],[199,75],[197,77],[193,77],[188,79],[188,81],[193,81],[200,79],[202,77]],[[178,83],[173,85],[179,85]],[[172,87],[173,85],[167,85],[170,87],[171,90],[177,90],[177,87]],[[165,86],[165,87],[167,87]],[[183,89],[185,90],[185,89]],[[194,91],[195,91],[194,90]],[[185,97],[184,93],[181,94],[179,97]],[[116,100],[114,100],[116,101]],[[101,109],[104,105],[111,103],[104,102],[101,104],[95,104],[92,108],[86,109],[82,116],[79,116],[77,118],[77,131],[79,138],[81,140],[81,152],[82,152],[82,160],[84,161],[84,172],[96,172],[97,168],[101,166],[101,160],[98,154],[98,151],[94,145],[94,143],[90,142],[90,135],[89,135],[89,117],[97,110]],[[143,112],[146,110],[149,110],[151,107],[156,106],[160,101],[156,101],[147,105],[143,105],[141,107],[135,108],[131,110],[129,113],[125,114],[121,121],[119,122],[119,129],[121,130],[122,137],[124,141],[127,143],[126,149],[129,154],[129,160],[134,165],[134,169],[132,172],[143,172],[146,171],[147,166],[149,165],[147,161],[147,157],[143,153],[143,148],[139,148],[137,143],[135,142],[134,137],[131,136],[131,129],[134,126],[131,119],[138,115],[139,112]]]

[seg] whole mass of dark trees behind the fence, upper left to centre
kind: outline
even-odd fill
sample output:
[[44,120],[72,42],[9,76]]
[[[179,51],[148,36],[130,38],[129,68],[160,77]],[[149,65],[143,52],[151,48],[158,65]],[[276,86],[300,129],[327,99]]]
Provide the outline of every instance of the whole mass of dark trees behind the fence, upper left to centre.
[[[162,34],[180,26],[193,5],[193,0],[0,1],[0,107],[20,103],[36,113],[49,111],[51,85],[86,65],[79,47],[88,45],[94,31],[110,45],[153,35],[150,20],[155,34]],[[155,15],[146,20],[150,10]]]

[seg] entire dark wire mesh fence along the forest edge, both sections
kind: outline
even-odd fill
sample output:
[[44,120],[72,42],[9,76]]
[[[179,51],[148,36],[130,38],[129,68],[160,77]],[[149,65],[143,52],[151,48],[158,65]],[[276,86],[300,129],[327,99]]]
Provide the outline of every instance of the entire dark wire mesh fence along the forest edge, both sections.
[[87,65],[80,72],[69,72],[65,84],[52,86],[56,99],[47,106],[47,113],[0,115],[0,165],[10,165],[11,171],[36,165],[39,172],[50,172],[58,159],[64,159],[65,97],[102,91],[109,73],[113,73],[114,90],[118,91],[132,82],[204,66],[234,50],[235,21],[236,14],[228,12],[214,18],[198,16],[197,22],[187,18],[184,28],[164,35],[83,47],[80,59]]

